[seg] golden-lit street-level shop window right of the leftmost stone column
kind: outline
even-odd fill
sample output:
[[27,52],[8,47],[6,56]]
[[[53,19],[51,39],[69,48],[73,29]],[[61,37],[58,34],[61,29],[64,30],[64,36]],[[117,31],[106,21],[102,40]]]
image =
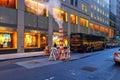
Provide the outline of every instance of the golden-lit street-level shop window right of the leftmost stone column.
[[38,47],[38,35],[26,33],[24,37],[24,47]]

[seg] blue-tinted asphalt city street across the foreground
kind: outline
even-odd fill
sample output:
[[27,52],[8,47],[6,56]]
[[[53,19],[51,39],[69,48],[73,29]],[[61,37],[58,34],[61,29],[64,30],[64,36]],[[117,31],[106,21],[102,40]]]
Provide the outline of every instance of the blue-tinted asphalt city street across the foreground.
[[120,65],[113,61],[118,49],[72,53],[77,58],[66,62],[48,56],[0,61],[0,80],[120,80]]

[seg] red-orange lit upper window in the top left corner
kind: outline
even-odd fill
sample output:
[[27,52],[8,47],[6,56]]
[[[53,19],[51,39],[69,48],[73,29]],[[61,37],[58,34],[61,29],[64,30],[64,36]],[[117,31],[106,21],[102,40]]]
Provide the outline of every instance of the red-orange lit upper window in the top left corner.
[[0,0],[0,6],[16,8],[16,0]]

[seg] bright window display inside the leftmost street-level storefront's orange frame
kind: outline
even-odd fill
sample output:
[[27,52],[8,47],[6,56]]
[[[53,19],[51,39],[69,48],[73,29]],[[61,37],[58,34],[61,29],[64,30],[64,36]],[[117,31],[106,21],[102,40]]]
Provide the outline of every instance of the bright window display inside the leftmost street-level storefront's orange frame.
[[12,48],[12,34],[0,33],[0,48]]

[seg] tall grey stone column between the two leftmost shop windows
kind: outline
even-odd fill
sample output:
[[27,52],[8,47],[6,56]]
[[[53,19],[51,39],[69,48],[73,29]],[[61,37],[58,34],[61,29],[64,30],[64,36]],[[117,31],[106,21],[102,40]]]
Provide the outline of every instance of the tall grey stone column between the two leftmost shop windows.
[[18,0],[17,52],[24,52],[24,0]]

